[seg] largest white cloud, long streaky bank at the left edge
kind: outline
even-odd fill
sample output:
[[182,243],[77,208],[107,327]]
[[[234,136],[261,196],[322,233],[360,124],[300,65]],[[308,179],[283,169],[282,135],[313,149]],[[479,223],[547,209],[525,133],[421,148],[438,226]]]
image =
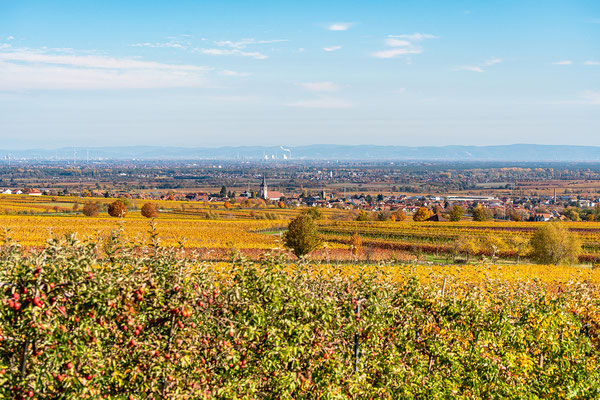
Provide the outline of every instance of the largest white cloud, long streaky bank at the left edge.
[[31,49],[0,52],[0,90],[206,87],[206,67]]

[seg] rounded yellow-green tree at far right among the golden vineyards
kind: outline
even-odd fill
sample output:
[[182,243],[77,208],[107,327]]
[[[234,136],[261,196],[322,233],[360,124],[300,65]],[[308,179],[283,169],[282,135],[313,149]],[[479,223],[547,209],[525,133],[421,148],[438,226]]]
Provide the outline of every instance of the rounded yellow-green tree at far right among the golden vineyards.
[[572,264],[581,252],[578,238],[559,223],[539,228],[529,244],[531,258],[540,264]]

